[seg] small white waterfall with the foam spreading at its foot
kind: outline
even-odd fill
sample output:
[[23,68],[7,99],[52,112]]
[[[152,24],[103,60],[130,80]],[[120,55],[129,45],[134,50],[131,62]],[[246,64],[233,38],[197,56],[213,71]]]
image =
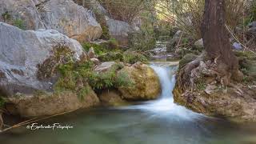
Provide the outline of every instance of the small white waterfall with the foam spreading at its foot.
[[174,103],[173,93],[175,86],[175,66],[158,66],[152,64],[150,67],[158,74],[162,86],[162,92],[158,99],[143,102],[140,105],[124,106],[118,109],[122,110],[145,110],[157,117],[171,118],[174,121],[193,121],[194,118],[201,118],[202,114],[194,113],[184,106],[178,106]]

